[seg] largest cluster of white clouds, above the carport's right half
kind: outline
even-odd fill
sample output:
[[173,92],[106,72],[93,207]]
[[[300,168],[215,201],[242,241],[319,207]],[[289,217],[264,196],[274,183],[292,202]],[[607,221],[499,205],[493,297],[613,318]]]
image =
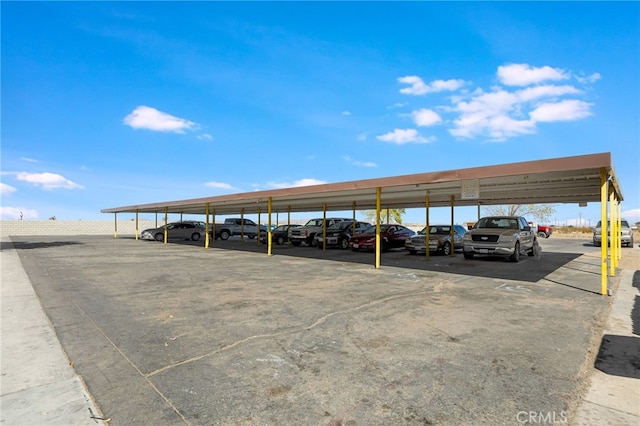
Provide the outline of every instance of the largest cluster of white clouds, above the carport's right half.
[[[576,85],[565,82],[574,77]],[[487,90],[465,87],[471,83],[460,79],[427,84],[414,75],[398,81],[410,85],[400,90],[404,94],[456,91],[441,96],[444,103],[414,109],[411,117],[417,127],[445,124],[448,132],[458,138],[504,141],[536,133],[539,123],[574,121],[592,115],[593,104],[585,94],[588,91],[578,84],[593,83],[600,74],[582,73],[578,77],[570,70],[551,66],[508,64],[497,68],[497,78],[500,84]],[[377,138],[398,144],[434,140],[425,140],[412,129],[396,129]]]

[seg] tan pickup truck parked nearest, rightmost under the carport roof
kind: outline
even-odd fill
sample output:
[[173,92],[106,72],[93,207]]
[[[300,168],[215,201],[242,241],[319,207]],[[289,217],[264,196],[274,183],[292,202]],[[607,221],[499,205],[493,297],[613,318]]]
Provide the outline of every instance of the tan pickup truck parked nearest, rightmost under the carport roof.
[[480,254],[506,256],[518,262],[523,253],[529,256],[538,253],[538,237],[522,216],[483,217],[464,235],[463,241],[465,259]]

